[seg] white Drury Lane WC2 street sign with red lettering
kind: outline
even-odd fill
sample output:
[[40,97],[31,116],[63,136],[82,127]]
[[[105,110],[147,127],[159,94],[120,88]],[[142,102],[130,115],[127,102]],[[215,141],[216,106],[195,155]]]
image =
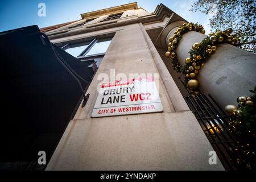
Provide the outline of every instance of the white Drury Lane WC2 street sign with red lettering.
[[92,117],[163,111],[154,78],[135,78],[101,85]]

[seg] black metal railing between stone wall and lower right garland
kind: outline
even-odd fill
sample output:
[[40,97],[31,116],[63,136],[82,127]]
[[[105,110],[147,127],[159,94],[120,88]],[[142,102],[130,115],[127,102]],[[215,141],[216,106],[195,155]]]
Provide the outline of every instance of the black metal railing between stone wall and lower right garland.
[[184,97],[189,108],[195,114],[205,135],[216,151],[226,170],[248,169],[245,155],[237,150],[237,140],[230,132],[229,115],[217,104],[210,94],[205,96]]

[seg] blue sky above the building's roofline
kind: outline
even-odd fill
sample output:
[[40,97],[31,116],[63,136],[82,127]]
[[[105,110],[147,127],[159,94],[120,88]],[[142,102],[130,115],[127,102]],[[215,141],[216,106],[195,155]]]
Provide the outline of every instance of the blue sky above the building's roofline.
[[[189,22],[199,22],[203,24],[208,34],[210,27],[207,26],[207,24],[209,23],[210,15],[189,11],[194,1],[195,0],[3,0],[0,5],[0,32],[33,24],[38,25],[39,28],[43,28],[54,24],[79,20],[81,19],[80,14],[89,11],[138,2],[139,7],[143,7],[143,9],[146,9],[150,13],[155,10],[157,5],[163,3]],[[38,4],[41,2],[46,4],[46,17],[38,16]]]

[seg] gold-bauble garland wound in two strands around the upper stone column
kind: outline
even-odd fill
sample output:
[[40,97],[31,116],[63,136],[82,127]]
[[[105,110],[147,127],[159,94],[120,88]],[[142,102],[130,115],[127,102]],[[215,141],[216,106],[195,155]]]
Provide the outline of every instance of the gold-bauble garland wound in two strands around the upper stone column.
[[184,23],[183,26],[177,28],[169,41],[168,51],[166,56],[172,59],[172,66],[177,72],[182,72],[185,76],[183,84],[187,86],[190,90],[192,96],[199,94],[199,81],[197,77],[201,67],[204,67],[204,62],[210,57],[210,55],[216,51],[217,44],[219,43],[229,43],[232,45],[238,44],[238,39],[236,35],[232,35],[232,29],[229,28],[226,31],[217,31],[215,33],[210,33],[207,38],[203,39],[201,43],[195,43],[192,49],[189,51],[190,57],[185,59],[185,65],[182,67],[177,60],[176,49],[177,43],[181,40],[183,34],[188,31],[197,31],[205,33],[203,26],[200,24]]

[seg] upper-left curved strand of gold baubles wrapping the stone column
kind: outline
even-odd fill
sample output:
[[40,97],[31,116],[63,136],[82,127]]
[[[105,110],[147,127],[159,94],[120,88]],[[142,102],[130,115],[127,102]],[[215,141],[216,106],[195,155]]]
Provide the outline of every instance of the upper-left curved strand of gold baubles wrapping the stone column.
[[189,31],[196,31],[202,34],[205,34],[204,27],[197,23],[184,23],[183,26],[177,28],[174,32],[174,35],[170,37],[169,44],[168,44],[168,51],[166,52],[166,56],[172,59],[172,66],[177,72],[180,72],[181,65],[177,60],[176,49],[177,44],[182,39],[182,35],[189,32]]

